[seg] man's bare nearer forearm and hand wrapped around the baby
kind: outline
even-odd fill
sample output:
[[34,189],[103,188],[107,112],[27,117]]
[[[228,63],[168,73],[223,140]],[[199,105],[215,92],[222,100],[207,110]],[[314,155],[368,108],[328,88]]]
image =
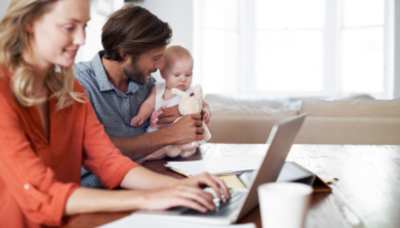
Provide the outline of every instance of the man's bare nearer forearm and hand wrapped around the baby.
[[167,145],[201,141],[204,133],[201,125],[200,114],[186,115],[177,123],[157,132],[136,137],[110,136],[110,138],[123,155],[132,159],[140,159]]

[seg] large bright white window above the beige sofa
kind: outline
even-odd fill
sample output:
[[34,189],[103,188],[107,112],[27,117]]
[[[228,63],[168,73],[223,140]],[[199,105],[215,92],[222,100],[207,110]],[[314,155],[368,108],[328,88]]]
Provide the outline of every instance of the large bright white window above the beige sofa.
[[206,93],[390,97],[390,0],[198,0]]

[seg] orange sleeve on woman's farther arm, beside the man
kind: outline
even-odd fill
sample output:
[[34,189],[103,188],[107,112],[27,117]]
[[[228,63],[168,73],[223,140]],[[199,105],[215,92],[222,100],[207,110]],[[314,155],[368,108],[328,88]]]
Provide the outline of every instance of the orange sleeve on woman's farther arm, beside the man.
[[83,165],[99,177],[106,188],[114,188],[130,169],[139,165],[116,148],[96,117],[90,102],[86,103],[86,110]]

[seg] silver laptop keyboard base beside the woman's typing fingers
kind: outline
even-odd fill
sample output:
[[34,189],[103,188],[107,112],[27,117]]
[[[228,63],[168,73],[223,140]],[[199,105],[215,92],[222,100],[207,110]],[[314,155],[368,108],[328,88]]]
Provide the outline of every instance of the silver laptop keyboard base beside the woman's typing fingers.
[[247,196],[247,191],[231,191],[231,198],[224,201],[221,201],[218,197],[213,198],[216,204],[214,210],[209,210],[207,213],[199,213],[193,209],[183,210],[182,215],[207,215],[207,216],[227,216],[238,209],[240,203],[242,203]]

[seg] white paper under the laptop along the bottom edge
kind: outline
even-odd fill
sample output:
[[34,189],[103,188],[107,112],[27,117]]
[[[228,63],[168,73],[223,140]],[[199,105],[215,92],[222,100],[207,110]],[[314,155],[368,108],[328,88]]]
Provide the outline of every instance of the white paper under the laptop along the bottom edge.
[[208,224],[196,224],[196,222],[182,222],[174,221],[172,219],[163,219],[162,216],[157,215],[141,215],[132,214],[124,218],[111,221],[98,228],[256,228],[254,224],[242,224],[242,225],[208,225]]

